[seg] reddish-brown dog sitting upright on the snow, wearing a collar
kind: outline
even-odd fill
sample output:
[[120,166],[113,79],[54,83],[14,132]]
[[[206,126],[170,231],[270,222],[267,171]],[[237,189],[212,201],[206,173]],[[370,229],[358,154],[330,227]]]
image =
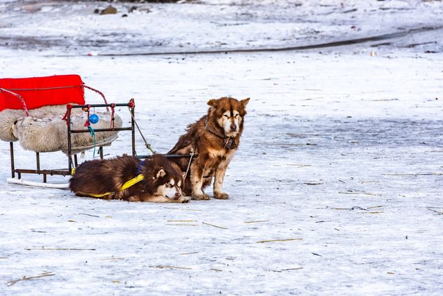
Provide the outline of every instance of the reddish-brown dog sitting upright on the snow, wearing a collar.
[[[208,101],[208,114],[188,126],[177,144],[168,154],[196,153],[190,165],[190,173],[183,187],[186,195],[193,200],[208,200],[203,189],[214,177],[214,198],[227,199],[229,195],[221,190],[226,168],[233,159],[243,132],[244,116],[249,98],[237,101],[235,98],[219,98]],[[181,171],[188,168],[189,159],[172,160]]]

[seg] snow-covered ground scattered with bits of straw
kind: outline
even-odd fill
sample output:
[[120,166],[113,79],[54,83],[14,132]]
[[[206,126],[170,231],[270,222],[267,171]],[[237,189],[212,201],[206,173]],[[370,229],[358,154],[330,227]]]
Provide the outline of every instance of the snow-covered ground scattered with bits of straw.
[[[94,15],[103,2],[0,2],[0,77],[79,73],[109,101],[135,98],[158,152],[208,99],[251,97],[229,200],[129,203],[6,184],[0,142],[1,295],[441,295],[441,29],[309,51],[106,54],[437,28],[442,2],[231,2],[143,4],[128,17]],[[17,166],[32,168],[35,155],[16,148]],[[124,133],[105,148],[129,151]],[[66,166],[62,153],[41,158]],[[8,286],[25,275],[44,277]]]

